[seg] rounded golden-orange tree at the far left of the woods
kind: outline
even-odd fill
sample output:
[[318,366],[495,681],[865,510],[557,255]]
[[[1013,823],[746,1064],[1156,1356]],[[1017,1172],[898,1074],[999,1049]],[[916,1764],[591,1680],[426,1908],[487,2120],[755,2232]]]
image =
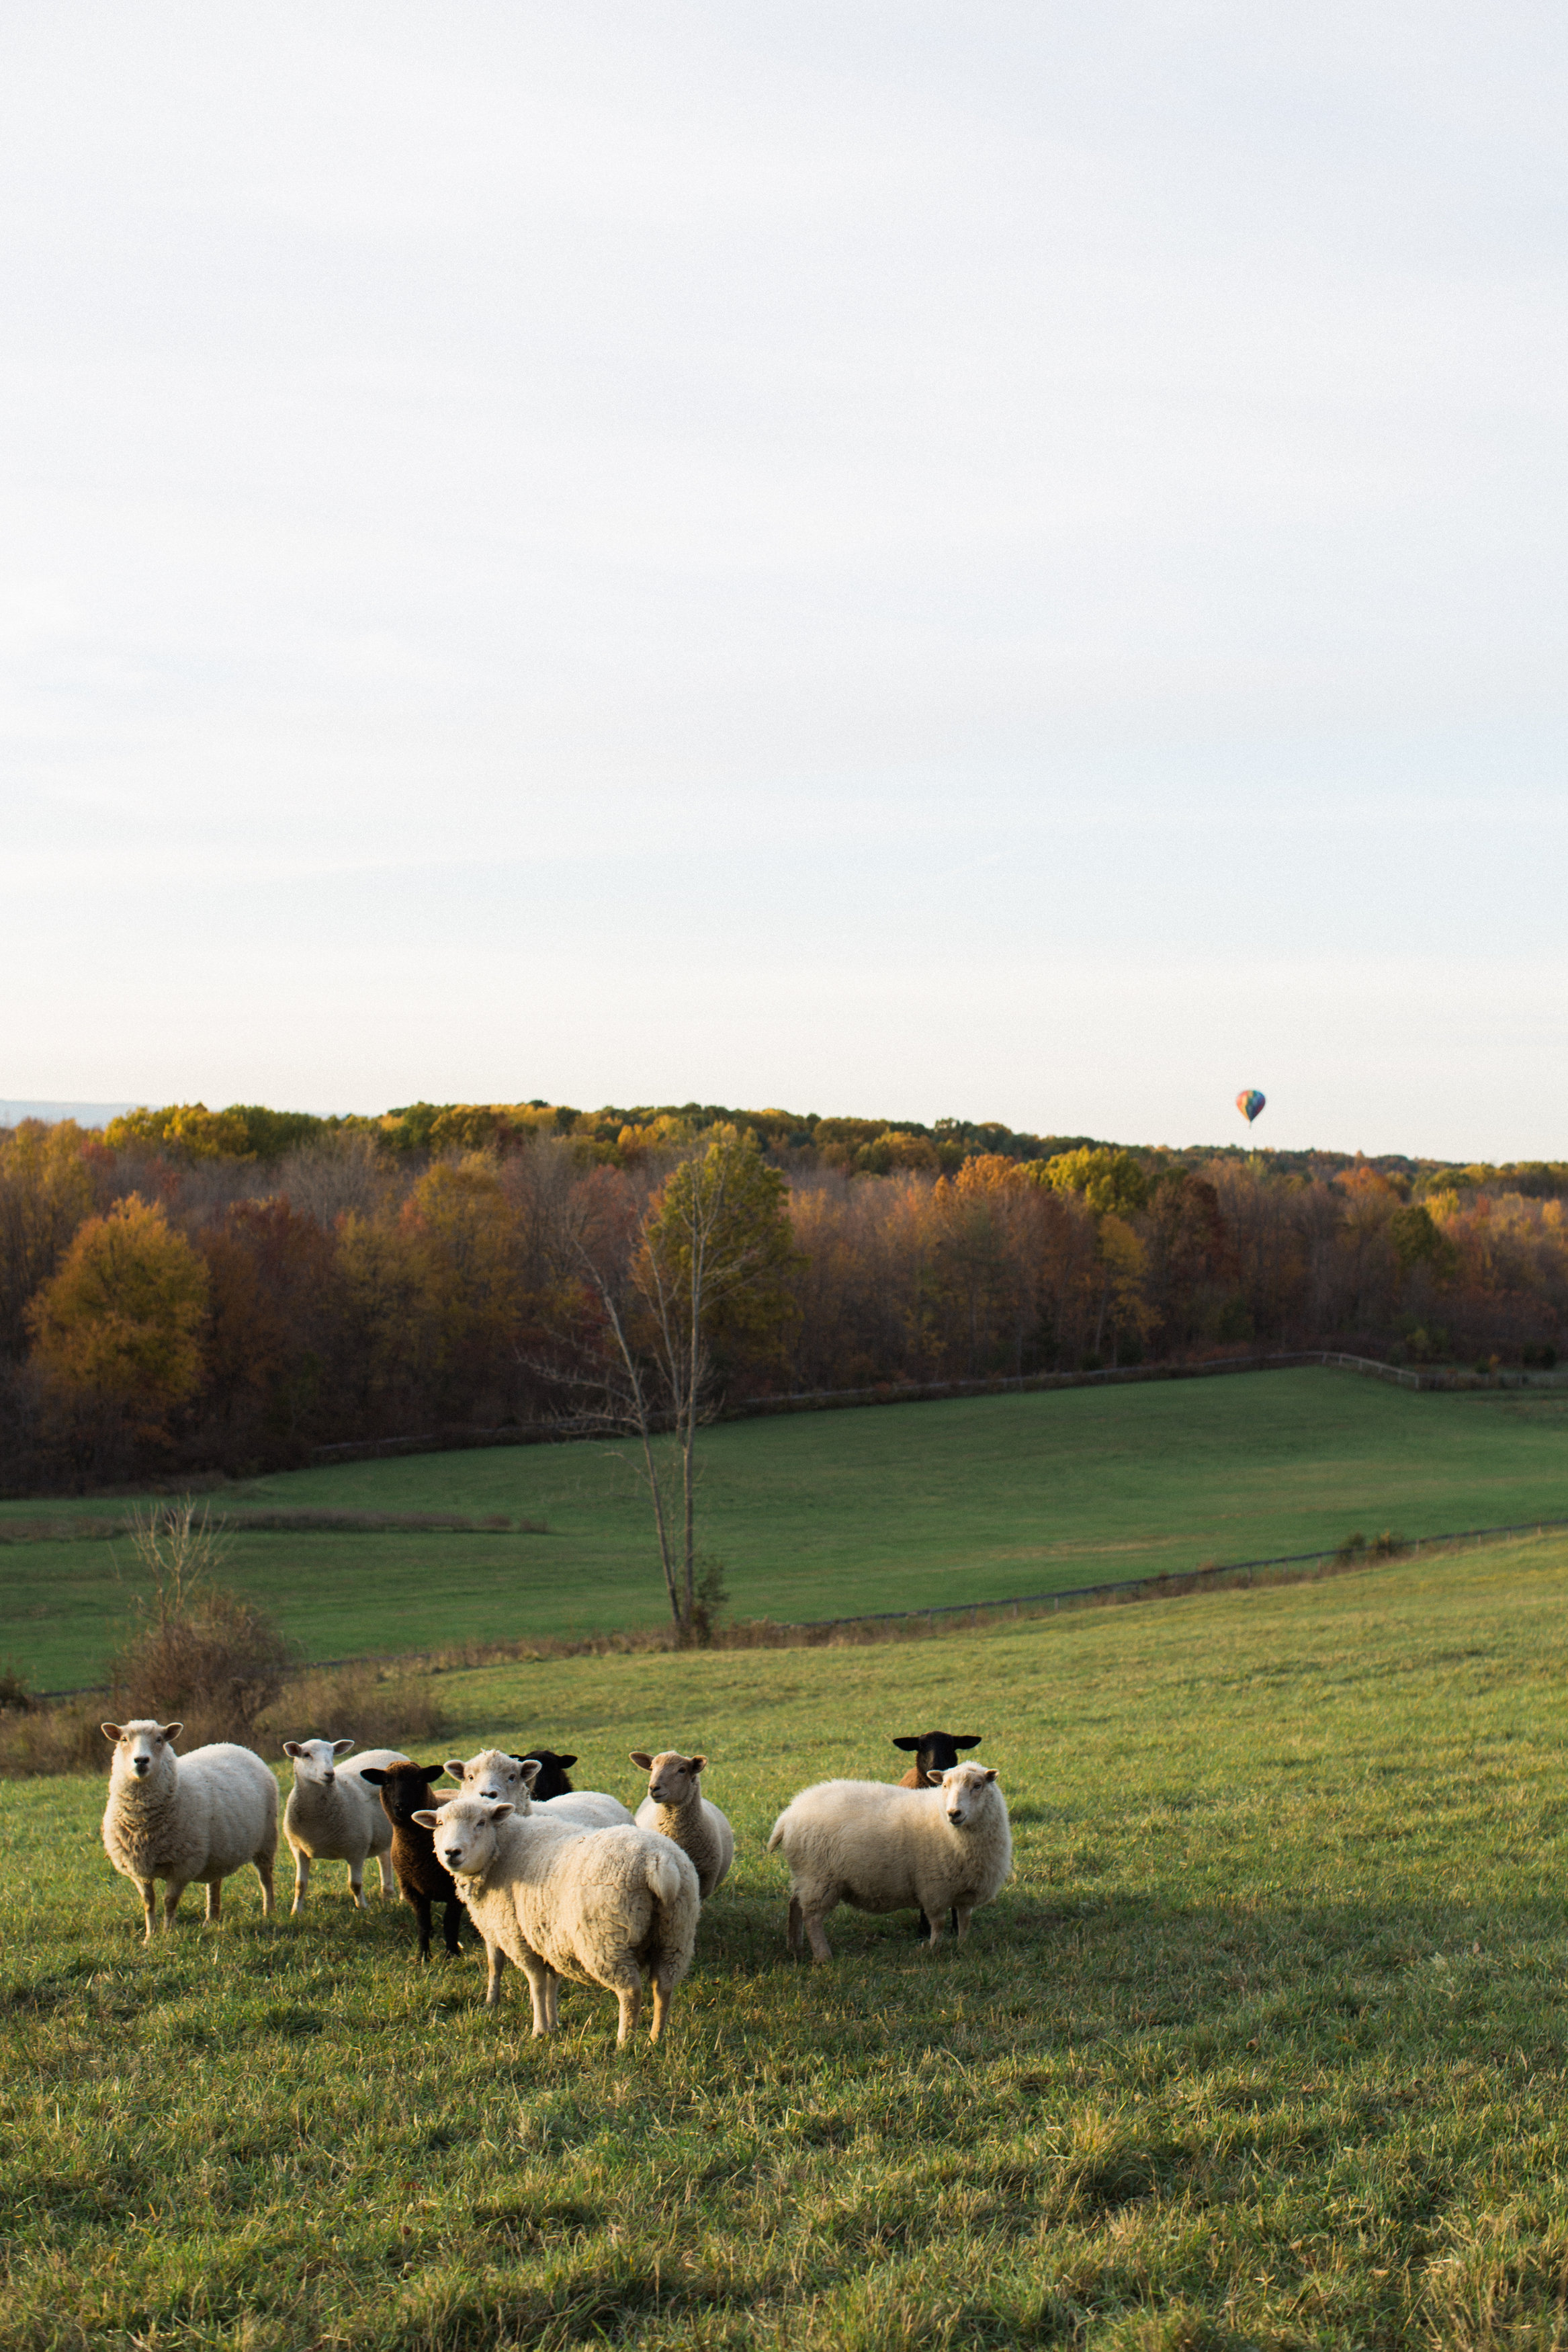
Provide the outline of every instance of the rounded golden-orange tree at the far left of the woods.
[[28,1308],[33,1359],[68,1399],[118,1411],[143,1439],[202,1378],[207,1265],[158,1202],[92,1216]]

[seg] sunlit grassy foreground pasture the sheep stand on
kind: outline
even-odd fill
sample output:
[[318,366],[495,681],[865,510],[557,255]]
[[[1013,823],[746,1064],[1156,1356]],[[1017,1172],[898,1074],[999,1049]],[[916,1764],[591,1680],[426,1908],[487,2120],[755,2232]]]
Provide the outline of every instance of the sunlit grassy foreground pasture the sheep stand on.
[[[454,1733],[712,1752],[738,1832],[672,2039],[254,1882],[136,1945],[101,1783],[0,1809],[0,2343],[1568,2345],[1568,1545],[940,1646],[442,1677]],[[961,1952],[785,1962],[776,1806],[985,1733],[1018,1872]],[[336,1729],[336,1726],[331,1726]],[[355,1724],[381,1738],[393,1724]],[[421,1757],[425,1748],[418,1750]],[[334,1884],[336,1882],[336,1884]]]

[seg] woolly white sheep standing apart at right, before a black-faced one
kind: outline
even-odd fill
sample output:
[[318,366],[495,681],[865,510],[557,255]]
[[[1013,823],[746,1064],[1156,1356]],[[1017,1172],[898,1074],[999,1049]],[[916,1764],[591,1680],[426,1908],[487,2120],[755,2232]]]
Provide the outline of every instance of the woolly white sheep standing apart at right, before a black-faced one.
[[1013,1867],[1013,1832],[997,1773],[954,1764],[936,1788],[886,1780],[818,1780],[773,1823],[769,1853],[790,1865],[790,1950],[802,1926],[813,1959],[832,1959],[823,1919],[837,1903],[856,1910],[924,1910],[931,1945],[952,1907],[959,1938],[969,1915],[990,1903]]

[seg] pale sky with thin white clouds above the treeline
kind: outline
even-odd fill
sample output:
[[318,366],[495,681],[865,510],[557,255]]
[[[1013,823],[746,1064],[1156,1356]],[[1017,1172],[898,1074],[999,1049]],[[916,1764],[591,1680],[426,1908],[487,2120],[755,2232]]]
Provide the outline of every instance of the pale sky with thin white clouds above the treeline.
[[1568,1157],[1568,19],[19,0],[0,1089]]

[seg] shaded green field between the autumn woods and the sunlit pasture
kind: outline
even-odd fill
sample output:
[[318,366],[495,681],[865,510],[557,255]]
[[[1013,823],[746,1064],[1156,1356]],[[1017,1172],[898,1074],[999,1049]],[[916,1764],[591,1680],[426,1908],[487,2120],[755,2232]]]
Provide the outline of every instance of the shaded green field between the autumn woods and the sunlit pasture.
[[[1568,1517],[1568,1392],[1410,1395],[1333,1371],[741,1421],[703,1444],[703,1541],[733,1613],[780,1621],[1300,1552],[1352,1529]],[[346,1463],[237,1494],[548,1529],[244,1534],[233,1581],[313,1658],[663,1618],[642,1489],[602,1444]],[[80,1510],[5,1503],[0,1531]],[[35,1686],[94,1677],[129,1604],[125,1555],[0,1543],[0,1644]]]

